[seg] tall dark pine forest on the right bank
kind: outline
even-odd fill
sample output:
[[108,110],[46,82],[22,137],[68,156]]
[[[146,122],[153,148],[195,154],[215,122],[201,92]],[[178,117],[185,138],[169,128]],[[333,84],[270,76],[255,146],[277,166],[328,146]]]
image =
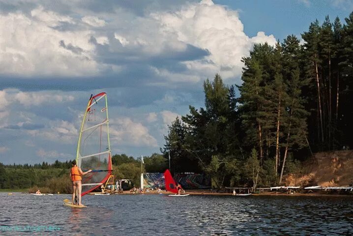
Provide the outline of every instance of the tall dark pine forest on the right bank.
[[[169,126],[172,172],[203,172],[217,187],[280,184],[313,152],[352,147],[353,12],[316,20],[242,59],[241,85],[204,82],[205,107]],[[236,47],[236,45],[235,45]]]

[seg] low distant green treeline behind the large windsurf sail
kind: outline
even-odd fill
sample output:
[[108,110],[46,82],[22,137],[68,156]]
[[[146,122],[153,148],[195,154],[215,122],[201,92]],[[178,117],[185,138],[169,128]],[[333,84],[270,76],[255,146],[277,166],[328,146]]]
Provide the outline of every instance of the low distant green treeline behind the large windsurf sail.
[[[144,166],[141,168],[141,160],[125,154],[112,156],[113,175],[115,179],[131,179],[136,186],[140,184],[140,176],[144,172],[163,172],[167,169],[167,160],[161,154],[153,153],[144,157]],[[71,161],[60,162],[56,160],[52,164],[13,164],[0,163],[0,189],[26,189],[35,192],[38,188],[43,193],[70,193],[71,180],[69,171]]]

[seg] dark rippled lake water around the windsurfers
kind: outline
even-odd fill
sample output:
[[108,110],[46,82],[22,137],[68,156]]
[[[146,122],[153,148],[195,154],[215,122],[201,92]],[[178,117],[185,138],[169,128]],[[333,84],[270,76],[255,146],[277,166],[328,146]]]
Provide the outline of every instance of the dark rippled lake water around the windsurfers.
[[0,193],[0,235],[353,234],[352,197],[86,195],[83,209],[62,206],[65,198]]

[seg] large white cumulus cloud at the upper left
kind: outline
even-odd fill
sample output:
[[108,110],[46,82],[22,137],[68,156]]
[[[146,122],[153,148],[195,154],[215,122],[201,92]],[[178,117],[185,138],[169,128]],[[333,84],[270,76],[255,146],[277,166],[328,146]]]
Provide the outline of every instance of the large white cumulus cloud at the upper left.
[[99,71],[89,43],[92,31],[55,29],[62,23],[75,24],[71,17],[42,7],[30,16],[20,11],[0,14],[0,73],[81,76]]

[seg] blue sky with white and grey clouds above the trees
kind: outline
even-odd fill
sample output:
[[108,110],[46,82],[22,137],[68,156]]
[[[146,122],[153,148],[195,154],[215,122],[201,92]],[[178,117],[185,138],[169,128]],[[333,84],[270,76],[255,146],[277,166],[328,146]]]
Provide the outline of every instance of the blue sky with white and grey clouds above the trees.
[[107,92],[112,153],[159,153],[204,105],[203,82],[241,84],[241,58],[352,0],[0,0],[0,162],[76,155],[91,94]]

